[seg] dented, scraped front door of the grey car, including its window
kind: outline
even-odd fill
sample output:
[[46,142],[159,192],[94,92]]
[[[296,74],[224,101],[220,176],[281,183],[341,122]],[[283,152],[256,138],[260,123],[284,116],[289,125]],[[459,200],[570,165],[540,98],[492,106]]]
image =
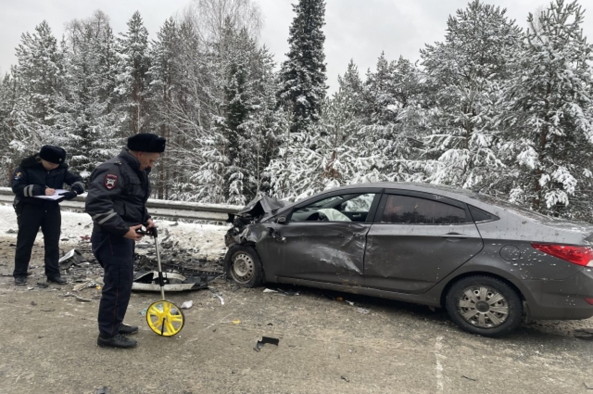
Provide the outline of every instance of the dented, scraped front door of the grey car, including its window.
[[[330,193],[295,206],[285,223],[275,223],[273,236],[257,246],[273,262],[266,275],[279,281],[362,285],[366,233],[372,223],[372,218],[363,218],[379,196],[376,190]],[[351,218],[349,212],[356,214]]]

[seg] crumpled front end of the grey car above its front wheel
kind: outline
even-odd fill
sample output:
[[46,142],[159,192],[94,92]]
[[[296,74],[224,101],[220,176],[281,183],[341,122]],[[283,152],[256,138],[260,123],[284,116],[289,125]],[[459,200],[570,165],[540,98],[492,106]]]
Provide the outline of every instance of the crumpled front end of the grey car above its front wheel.
[[225,234],[225,245],[231,247],[234,244],[258,242],[267,234],[267,230],[263,226],[250,226],[249,224],[267,220],[287,204],[285,201],[259,193],[245,208],[229,218],[229,222],[233,226]]

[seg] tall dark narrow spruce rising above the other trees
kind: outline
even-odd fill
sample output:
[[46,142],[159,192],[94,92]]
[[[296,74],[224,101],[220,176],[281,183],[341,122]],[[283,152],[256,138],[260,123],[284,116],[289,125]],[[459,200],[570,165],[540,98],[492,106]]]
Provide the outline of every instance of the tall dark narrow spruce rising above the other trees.
[[299,0],[289,28],[288,59],[280,69],[278,99],[291,114],[291,131],[306,132],[321,117],[326,96],[324,0]]

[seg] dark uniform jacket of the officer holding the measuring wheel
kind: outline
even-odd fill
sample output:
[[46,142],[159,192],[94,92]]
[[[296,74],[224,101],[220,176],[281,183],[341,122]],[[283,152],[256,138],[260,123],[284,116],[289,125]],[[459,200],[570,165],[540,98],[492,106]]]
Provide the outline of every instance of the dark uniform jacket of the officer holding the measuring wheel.
[[127,148],[93,171],[85,202],[93,231],[123,237],[130,226],[146,223],[150,218],[146,211],[151,191],[149,171],[150,167],[140,170],[140,162]]

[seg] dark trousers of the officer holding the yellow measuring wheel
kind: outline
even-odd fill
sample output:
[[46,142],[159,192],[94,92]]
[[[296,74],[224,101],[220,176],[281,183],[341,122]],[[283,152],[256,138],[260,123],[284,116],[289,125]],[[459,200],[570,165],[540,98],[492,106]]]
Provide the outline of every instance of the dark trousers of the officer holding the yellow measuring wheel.
[[113,336],[119,332],[132,294],[135,242],[104,231],[93,231],[91,245],[105,271],[97,316],[99,332]]

